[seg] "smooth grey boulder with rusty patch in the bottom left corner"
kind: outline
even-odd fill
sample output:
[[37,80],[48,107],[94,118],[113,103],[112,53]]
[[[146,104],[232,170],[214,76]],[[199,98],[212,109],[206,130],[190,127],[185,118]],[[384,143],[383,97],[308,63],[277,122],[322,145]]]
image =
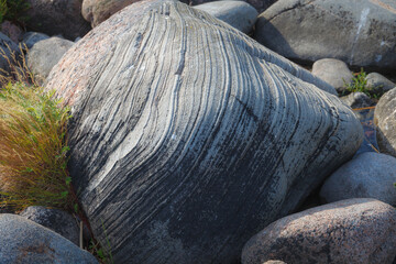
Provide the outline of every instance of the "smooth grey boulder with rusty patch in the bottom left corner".
[[0,215],[2,264],[97,264],[87,251],[62,235],[16,215]]

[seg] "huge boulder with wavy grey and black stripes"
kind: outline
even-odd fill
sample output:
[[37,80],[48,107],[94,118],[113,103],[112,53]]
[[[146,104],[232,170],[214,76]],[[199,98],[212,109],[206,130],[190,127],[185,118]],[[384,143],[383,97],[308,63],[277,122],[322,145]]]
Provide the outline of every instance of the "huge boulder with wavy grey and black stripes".
[[152,0],[76,43],[46,88],[72,106],[70,174],[116,263],[234,263],[361,143],[314,84],[334,92],[224,22]]

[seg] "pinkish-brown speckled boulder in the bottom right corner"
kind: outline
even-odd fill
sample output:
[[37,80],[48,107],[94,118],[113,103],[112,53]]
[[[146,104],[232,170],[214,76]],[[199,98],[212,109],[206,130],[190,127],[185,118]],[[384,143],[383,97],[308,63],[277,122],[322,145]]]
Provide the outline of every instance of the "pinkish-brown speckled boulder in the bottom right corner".
[[374,199],[316,207],[273,222],[244,246],[242,264],[391,264],[396,256],[396,210]]

